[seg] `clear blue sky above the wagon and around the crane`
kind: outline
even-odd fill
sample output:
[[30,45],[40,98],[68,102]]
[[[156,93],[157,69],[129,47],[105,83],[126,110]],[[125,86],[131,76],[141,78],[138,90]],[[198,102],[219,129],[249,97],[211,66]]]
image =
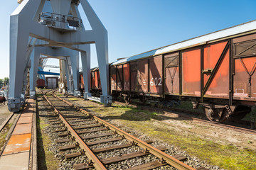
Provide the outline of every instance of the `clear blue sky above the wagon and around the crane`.
[[[110,62],[256,19],[255,0],[89,2],[107,28]],[[0,6],[0,79],[9,76],[9,16],[17,6],[16,0]],[[97,66],[95,59],[92,45],[92,67]],[[48,64],[58,64],[58,61]]]

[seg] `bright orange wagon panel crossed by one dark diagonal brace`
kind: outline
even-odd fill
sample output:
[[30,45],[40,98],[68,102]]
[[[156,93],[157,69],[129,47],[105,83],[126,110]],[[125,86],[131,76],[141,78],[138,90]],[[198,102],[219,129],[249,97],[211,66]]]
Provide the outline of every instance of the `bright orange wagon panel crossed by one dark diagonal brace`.
[[228,98],[230,84],[230,43],[216,42],[203,49],[204,97]]

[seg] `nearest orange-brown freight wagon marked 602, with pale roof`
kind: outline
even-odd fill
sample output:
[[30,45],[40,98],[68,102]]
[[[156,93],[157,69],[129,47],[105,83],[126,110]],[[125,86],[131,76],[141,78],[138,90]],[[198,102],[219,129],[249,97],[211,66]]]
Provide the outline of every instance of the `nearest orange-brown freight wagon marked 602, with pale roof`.
[[[219,30],[110,64],[110,93],[187,100],[209,120],[243,118],[256,106],[256,21]],[[96,84],[92,79],[92,86]]]

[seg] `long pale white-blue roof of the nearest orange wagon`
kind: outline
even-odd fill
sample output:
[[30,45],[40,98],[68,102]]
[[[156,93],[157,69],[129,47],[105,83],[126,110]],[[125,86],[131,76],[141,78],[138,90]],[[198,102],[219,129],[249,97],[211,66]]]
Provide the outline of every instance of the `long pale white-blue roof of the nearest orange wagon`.
[[247,23],[242,23],[238,26],[225,28],[223,30],[218,30],[218,31],[215,31],[213,33],[208,33],[206,35],[201,35],[201,36],[198,36],[196,38],[191,38],[191,39],[184,40],[184,41],[181,41],[181,42],[176,42],[172,45],[159,47],[155,50],[144,52],[144,53],[141,53],[139,55],[134,55],[132,57],[126,57],[123,60],[117,60],[117,62],[113,62],[111,65],[122,64],[122,63],[125,63],[125,62],[132,62],[133,60],[139,60],[139,59],[142,59],[142,58],[145,58],[145,57],[151,57],[151,56],[154,56],[154,55],[161,55],[161,54],[164,54],[166,52],[172,52],[172,51],[176,51],[176,50],[185,49],[185,48],[188,48],[188,47],[203,45],[203,44],[207,44],[210,41],[221,40],[221,39],[229,38],[230,36],[240,35],[242,33],[250,33],[250,32],[253,32],[253,31],[256,32],[256,20],[250,21],[250,22],[247,22]]

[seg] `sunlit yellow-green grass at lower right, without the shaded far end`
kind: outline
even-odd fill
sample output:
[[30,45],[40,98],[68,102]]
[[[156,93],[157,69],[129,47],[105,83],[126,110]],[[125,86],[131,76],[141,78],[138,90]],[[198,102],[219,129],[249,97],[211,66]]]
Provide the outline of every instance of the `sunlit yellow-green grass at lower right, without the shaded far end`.
[[134,122],[121,120],[124,125],[137,129],[151,137],[163,140],[171,145],[186,150],[188,154],[206,160],[209,164],[223,169],[255,169],[256,152],[239,149],[233,145],[221,145],[211,140],[201,139],[195,135],[182,135],[180,132],[159,126],[151,122]]

